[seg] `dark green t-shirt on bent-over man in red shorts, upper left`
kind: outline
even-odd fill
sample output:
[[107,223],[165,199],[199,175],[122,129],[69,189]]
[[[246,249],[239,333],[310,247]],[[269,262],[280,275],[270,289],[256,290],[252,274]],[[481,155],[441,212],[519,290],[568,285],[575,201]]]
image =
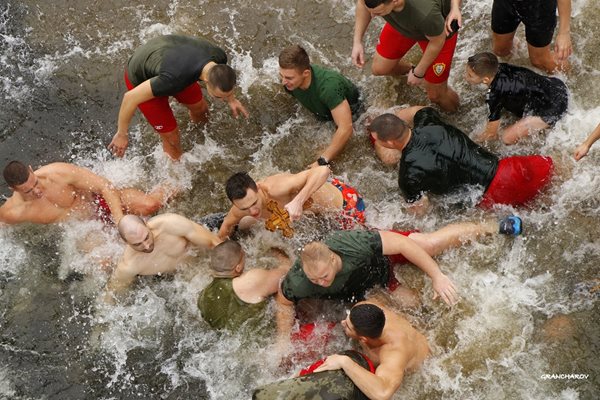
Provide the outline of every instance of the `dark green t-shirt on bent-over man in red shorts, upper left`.
[[152,94],[174,96],[200,79],[210,61],[226,64],[225,52],[204,39],[165,35],[138,47],[127,64],[134,86],[150,79]]

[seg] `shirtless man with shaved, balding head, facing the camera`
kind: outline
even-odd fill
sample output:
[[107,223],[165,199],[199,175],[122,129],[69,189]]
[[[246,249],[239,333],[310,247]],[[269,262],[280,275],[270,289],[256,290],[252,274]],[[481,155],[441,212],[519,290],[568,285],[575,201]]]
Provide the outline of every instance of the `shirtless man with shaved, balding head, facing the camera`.
[[119,222],[119,234],[127,247],[108,281],[108,302],[113,294],[127,289],[137,275],[175,272],[190,246],[212,249],[221,242],[206,228],[171,213],[157,215],[148,222],[126,215]]

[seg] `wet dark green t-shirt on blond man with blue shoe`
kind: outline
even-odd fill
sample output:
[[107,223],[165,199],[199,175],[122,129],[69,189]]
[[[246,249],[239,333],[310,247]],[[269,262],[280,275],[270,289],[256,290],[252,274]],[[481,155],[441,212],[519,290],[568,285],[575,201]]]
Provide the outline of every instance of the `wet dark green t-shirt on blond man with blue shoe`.
[[387,284],[390,264],[383,255],[379,232],[336,231],[328,235],[324,243],[341,257],[342,270],[331,286],[322,287],[308,279],[302,269],[302,261],[296,259],[281,285],[288,300],[298,302],[305,298],[325,298],[359,301],[367,290]]

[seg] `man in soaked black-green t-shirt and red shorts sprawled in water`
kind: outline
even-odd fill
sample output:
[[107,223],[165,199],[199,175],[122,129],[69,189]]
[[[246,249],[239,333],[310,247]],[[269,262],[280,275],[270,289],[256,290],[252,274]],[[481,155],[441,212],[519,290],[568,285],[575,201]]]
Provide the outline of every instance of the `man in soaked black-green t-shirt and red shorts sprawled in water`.
[[447,194],[465,185],[485,189],[479,203],[482,207],[519,206],[532,200],[550,182],[553,172],[550,157],[499,160],[430,107],[380,115],[369,130],[382,160],[399,162],[398,185],[417,212],[427,208],[429,192]]

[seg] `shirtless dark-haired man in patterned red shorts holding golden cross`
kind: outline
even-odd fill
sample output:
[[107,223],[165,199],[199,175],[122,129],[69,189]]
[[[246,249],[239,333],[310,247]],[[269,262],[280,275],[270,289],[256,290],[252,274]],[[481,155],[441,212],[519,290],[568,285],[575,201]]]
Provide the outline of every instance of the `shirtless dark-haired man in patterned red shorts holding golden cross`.
[[[259,182],[245,172],[234,174],[225,184],[227,197],[233,207],[223,220],[219,237],[229,237],[239,223],[246,225],[258,219],[268,220],[272,216],[268,209],[270,201],[285,209],[291,221],[298,220],[303,208],[307,207],[317,212],[340,210],[340,222],[344,228],[364,223],[363,199],[354,188],[337,179],[328,182],[329,173],[329,167],[321,165],[297,174],[269,176]],[[309,206],[310,199],[312,204]]]

